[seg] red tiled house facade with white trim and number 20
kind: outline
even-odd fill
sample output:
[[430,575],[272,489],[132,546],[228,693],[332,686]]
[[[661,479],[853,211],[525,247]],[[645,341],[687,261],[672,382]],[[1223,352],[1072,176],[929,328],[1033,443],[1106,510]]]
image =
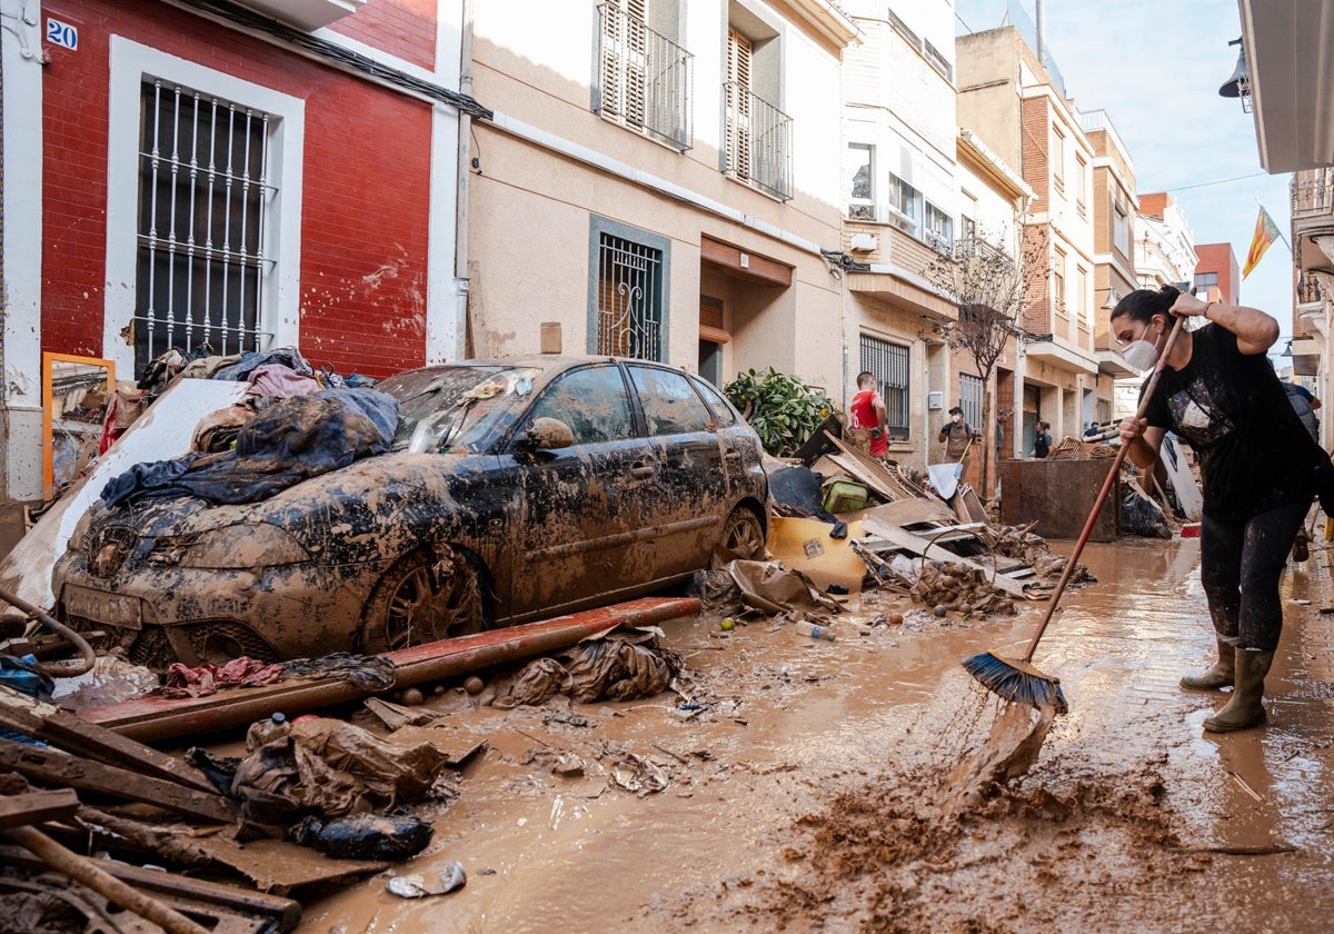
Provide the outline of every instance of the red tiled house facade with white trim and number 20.
[[0,59],[4,500],[39,498],[43,352],[121,380],[172,346],[374,378],[460,355],[456,7],[0,0],[21,24]]

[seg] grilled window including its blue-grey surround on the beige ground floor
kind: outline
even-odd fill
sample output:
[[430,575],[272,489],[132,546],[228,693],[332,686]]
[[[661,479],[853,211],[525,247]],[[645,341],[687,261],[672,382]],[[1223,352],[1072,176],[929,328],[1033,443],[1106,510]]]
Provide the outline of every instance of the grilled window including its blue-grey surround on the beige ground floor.
[[667,242],[594,217],[590,351],[663,360]]

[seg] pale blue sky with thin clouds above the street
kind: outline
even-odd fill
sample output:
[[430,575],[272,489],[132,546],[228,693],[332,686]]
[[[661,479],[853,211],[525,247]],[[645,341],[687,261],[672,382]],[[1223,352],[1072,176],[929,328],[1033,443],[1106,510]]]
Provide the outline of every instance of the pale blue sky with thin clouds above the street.
[[[1011,4],[1035,19],[1033,0],[956,0],[955,33],[1002,25]],[[1265,172],[1253,116],[1218,95],[1237,65],[1237,0],[1049,0],[1043,19],[1066,93],[1081,111],[1107,112],[1139,192],[1169,191],[1195,243],[1231,243],[1245,266],[1259,204],[1290,239],[1291,176]],[[1278,319],[1275,351],[1291,336],[1291,276],[1277,240],[1241,284],[1242,303]]]

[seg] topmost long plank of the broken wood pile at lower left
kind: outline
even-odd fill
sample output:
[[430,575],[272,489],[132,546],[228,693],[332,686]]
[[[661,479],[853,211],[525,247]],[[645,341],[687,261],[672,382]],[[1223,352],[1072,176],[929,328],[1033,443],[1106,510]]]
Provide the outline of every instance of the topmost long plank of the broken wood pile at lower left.
[[180,759],[3,684],[0,726],[109,766],[127,767],[197,791],[215,791],[207,778]]

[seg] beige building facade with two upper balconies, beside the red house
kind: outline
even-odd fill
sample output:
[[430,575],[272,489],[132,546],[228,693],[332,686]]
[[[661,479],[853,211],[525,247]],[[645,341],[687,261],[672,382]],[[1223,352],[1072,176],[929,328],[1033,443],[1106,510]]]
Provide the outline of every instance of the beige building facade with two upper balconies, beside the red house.
[[[472,356],[662,360],[843,384],[840,56],[816,0],[474,4]],[[548,327],[547,332],[551,334]]]

